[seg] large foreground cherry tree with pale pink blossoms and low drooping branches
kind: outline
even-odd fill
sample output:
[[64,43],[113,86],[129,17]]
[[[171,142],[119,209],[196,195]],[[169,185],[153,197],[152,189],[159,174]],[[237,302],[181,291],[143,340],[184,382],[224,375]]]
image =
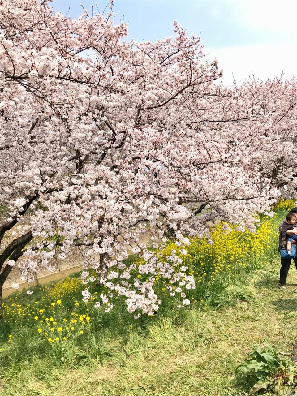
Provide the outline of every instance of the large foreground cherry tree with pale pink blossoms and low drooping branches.
[[[281,158],[293,153],[296,84],[226,88],[200,37],[173,28],[172,38],[126,42],[112,2],[74,20],[44,0],[2,0],[1,290],[13,266],[25,278],[84,247],[85,301],[93,268],[129,312],[154,312],[157,272],[182,297],[195,284],[179,255],[161,262],[139,244],[148,225],[154,247],[171,238],[183,255],[188,236],[209,237],[211,213],[253,229],[253,213],[292,184],[296,158],[289,172]],[[129,248],[145,265],[122,262]]]

